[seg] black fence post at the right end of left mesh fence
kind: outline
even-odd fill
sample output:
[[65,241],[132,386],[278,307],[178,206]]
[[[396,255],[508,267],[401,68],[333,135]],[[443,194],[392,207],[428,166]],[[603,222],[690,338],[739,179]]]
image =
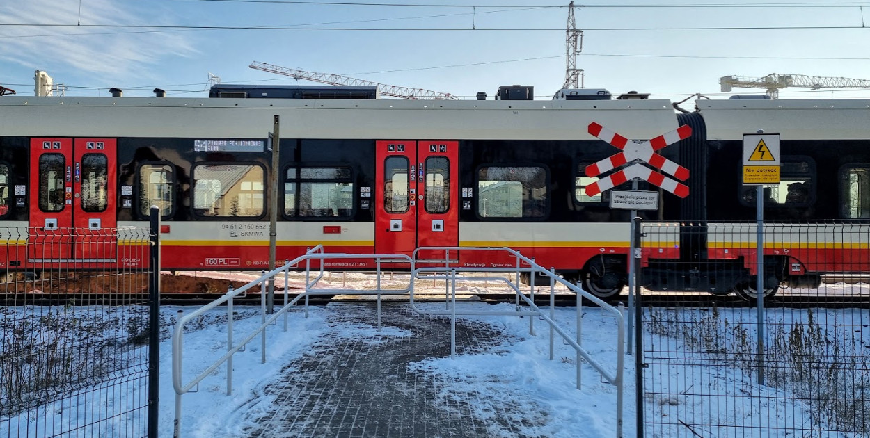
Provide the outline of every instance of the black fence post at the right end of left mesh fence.
[[148,300],[148,437],[157,438],[160,407],[160,209],[151,206]]

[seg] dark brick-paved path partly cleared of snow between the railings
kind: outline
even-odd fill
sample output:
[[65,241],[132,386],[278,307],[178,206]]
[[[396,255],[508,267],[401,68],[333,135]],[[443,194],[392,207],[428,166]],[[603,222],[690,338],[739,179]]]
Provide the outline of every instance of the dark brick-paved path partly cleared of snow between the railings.
[[[498,394],[498,390],[479,394],[473,389],[445,394],[445,379],[455,382],[461,376],[425,375],[409,368],[412,362],[450,355],[449,319],[418,315],[407,302],[384,303],[385,335],[354,339],[340,331],[348,324],[376,325],[375,304],[342,304],[336,310],[327,318],[330,330],[311,351],[284,367],[284,377],[265,389],[277,401],[247,435],[513,437],[528,436],[517,429],[545,421],[545,413],[521,395]],[[458,355],[491,350],[509,341],[490,324],[457,322]],[[489,383],[498,388],[498,382]],[[455,383],[451,386],[455,388]],[[472,407],[486,418],[474,415]]]

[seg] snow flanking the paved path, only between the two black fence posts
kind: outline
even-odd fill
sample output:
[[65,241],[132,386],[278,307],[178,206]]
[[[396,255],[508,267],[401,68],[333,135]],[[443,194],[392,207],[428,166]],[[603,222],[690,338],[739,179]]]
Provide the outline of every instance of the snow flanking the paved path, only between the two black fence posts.
[[[444,303],[422,303],[423,308],[443,310]],[[514,309],[512,304],[490,305],[485,303],[460,303],[463,309],[508,311]],[[259,337],[249,344],[243,353],[233,359],[233,395],[225,395],[225,367],[218,368],[213,378],[200,385],[197,393],[184,395],[184,416],[181,419],[184,436],[192,438],[212,438],[214,436],[244,436],[244,428],[250,426],[251,410],[262,411],[264,405],[273,402],[263,395],[263,388],[271,379],[264,376],[277,375],[285,363],[296,355],[301,355],[305,349],[316,341],[317,335],[325,332],[325,313],[337,312],[341,303],[331,303],[325,307],[310,307],[306,319],[301,311],[290,315],[288,331],[281,331],[283,323],[271,330],[267,361],[260,363]],[[168,309],[167,309],[168,310]],[[225,312],[225,310],[224,310]],[[573,327],[576,316],[572,309],[556,309],[559,322]],[[422,316],[421,316],[422,317]],[[463,392],[492,391],[488,385],[492,376],[503,388],[501,393],[522,393],[539,401],[552,412],[550,421],[544,427],[529,431],[529,436],[554,437],[599,437],[614,436],[616,416],[602,415],[604,412],[614,412],[616,406],[616,389],[600,382],[600,376],[588,366],[583,370],[583,389],[575,388],[576,368],[575,352],[560,340],[556,340],[554,360],[549,361],[549,330],[545,322],[536,321],[535,333],[529,335],[527,318],[515,316],[483,316],[476,319],[482,322],[501,326],[504,335],[514,335],[520,339],[512,345],[503,345],[498,353],[480,355],[458,355],[455,358],[427,359],[413,364],[413,368],[425,370],[432,375],[461,376],[462,386],[458,388],[443,388],[444,395],[455,395]],[[393,336],[410,335],[399,328],[388,326],[378,330],[376,321],[360,321],[347,324],[340,330],[340,335],[355,339],[366,339],[369,342],[385,342]],[[239,333],[250,332],[260,324],[259,315],[254,315],[242,321],[235,322]],[[569,328],[572,331],[572,328]],[[599,309],[587,309],[584,318],[584,330],[588,336],[585,348],[599,362],[606,363],[613,369],[616,359],[614,318]],[[209,326],[204,330],[184,336],[185,376],[189,379],[210,365],[217,357],[223,355],[226,348],[225,329]],[[590,341],[594,340],[594,342]],[[172,418],[172,404],[175,393],[169,384],[171,375],[167,369],[171,366],[169,345],[161,346],[161,412],[166,420]],[[633,393],[633,362],[626,362],[626,405],[627,399]],[[188,366],[188,364],[190,364]],[[195,365],[196,364],[196,365]],[[613,372],[613,371],[612,371]],[[188,380],[184,380],[188,382]],[[446,382],[450,382],[449,380]],[[244,409],[243,409],[244,407]],[[485,419],[492,413],[484,412],[472,406],[472,412],[480,419]],[[633,418],[633,408],[627,407],[625,418]],[[626,435],[632,436],[633,426],[626,421]],[[171,436],[171,425],[164,423],[160,436]]]

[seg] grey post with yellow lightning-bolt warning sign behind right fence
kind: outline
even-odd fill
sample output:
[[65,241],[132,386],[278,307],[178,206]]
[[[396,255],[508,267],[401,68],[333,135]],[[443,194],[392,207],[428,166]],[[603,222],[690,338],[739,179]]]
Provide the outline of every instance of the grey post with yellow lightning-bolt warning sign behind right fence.
[[780,135],[743,135],[743,184],[756,185],[755,293],[758,299],[759,384],[764,385],[764,185],[780,183]]

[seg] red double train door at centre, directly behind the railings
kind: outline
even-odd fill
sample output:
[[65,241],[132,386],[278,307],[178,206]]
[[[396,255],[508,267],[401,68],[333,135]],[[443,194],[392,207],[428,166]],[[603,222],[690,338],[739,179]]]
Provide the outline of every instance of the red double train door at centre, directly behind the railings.
[[411,255],[417,247],[457,246],[458,142],[378,141],[376,146],[375,252]]

